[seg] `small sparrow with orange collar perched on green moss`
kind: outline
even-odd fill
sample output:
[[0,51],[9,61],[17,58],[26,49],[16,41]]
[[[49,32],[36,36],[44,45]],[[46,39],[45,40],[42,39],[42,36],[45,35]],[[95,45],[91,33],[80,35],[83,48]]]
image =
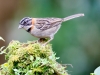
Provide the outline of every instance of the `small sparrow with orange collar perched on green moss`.
[[24,17],[19,22],[18,29],[25,29],[34,37],[39,39],[48,38],[43,45],[53,40],[54,35],[60,29],[61,24],[65,21],[84,16],[83,13],[74,14],[65,18],[47,17],[47,18],[31,18]]

